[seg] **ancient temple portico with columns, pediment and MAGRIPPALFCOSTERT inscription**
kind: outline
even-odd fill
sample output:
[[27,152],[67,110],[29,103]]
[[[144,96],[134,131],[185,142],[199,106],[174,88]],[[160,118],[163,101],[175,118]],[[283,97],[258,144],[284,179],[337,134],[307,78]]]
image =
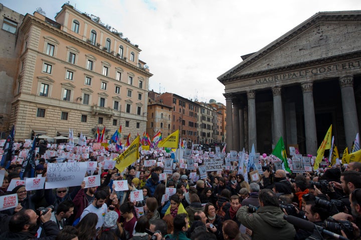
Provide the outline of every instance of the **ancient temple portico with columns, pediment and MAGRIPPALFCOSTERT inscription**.
[[[332,124],[350,148],[361,112],[361,11],[318,12],[218,77],[227,150],[270,153],[280,136],[316,154]],[[233,117],[232,117],[233,116]]]

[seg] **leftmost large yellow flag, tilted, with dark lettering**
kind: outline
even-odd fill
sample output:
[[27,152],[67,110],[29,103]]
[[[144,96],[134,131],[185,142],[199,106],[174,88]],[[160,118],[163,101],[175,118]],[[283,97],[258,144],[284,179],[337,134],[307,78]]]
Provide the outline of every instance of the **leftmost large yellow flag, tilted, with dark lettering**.
[[137,136],[129,147],[119,156],[115,157],[113,160],[116,161],[115,167],[119,171],[123,171],[131,163],[136,161],[139,158],[139,136]]

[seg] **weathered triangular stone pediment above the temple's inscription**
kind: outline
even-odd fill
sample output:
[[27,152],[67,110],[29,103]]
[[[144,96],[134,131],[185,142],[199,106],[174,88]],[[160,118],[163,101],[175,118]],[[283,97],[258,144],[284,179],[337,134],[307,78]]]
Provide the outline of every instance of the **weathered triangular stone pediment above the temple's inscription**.
[[218,77],[221,82],[361,51],[361,11],[318,12]]

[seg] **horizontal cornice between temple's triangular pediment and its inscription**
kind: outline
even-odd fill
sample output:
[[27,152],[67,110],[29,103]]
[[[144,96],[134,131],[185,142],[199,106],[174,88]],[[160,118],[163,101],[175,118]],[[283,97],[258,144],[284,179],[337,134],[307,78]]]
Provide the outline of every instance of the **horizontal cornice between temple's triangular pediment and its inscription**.
[[338,61],[349,60],[349,59],[359,58],[359,57],[361,57],[361,51],[354,51],[354,52],[350,52],[347,54],[340,54],[340,55],[334,55],[334,56],[324,57],[324,58],[320,58],[320,59],[315,59],[315,60],[311,60],[311,61],[304,61],[304,62],[300,62],[300,63],[295,63],[295,64],[291,64],[291,65],[267,69],[267,70],[263,70],[263,71],[252,72],[252,73],[248,73],[248,74],[244,74],[244,75],[240,75],[240,76],[222,78],[222,79],[219,79],[219,81],[224,84],[227,82],[254,78],[254,77],[267,76],[267,75],[277,74],[277,73],[281,73],[281,72],[298,70],[298,69],[302,69],[302,68],[309,68],[312,66],[319,66],[319,65],[329,64],[329,63],[335,63]]

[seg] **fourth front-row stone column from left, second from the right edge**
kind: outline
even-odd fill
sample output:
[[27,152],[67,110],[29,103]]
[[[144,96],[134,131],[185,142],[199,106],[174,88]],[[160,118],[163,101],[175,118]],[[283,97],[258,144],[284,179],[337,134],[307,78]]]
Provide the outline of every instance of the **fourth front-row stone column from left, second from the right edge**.
[[305,122],[306,135],[306,153],[316,155],[317,152],[317,134],[316,119],[313,105],[313,83],[305,82],[301,84],[303,94],[303,114]]

